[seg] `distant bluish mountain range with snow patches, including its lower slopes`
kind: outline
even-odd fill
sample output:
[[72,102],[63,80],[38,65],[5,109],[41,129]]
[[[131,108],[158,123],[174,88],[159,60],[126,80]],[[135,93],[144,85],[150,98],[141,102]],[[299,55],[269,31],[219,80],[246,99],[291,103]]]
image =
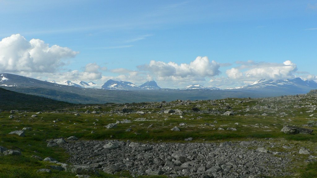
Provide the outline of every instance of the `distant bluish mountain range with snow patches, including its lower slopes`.
[[103,85],[80,80],[48,82],[9,73],[0,73],[0,87],[7,90],[42,96],[70,103],[132,103],[149,101],[223,99],[223,98],[261,98],[282,95],[306,94],[317,89],[313,80],[300,78],[272,80],[259,79],[248,86],[219,89],[199,84],[180,89],[161,89],[155,81],[136,86],[127,81],[108,80]]

